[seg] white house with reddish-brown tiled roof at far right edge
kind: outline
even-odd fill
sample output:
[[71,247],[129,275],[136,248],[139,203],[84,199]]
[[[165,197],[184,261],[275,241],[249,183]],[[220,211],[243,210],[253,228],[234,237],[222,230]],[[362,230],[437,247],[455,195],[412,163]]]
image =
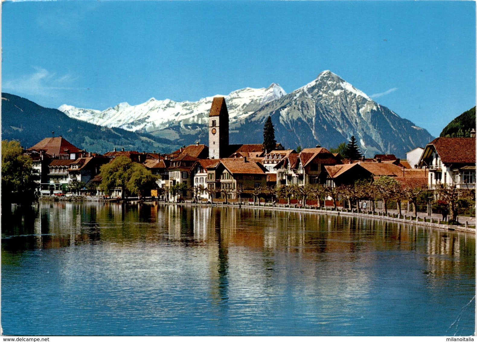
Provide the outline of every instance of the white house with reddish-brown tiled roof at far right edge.
[[427,184],[456,184],[475,189],[476,139],[439,137],[425,146],[419,166],[429,169]]

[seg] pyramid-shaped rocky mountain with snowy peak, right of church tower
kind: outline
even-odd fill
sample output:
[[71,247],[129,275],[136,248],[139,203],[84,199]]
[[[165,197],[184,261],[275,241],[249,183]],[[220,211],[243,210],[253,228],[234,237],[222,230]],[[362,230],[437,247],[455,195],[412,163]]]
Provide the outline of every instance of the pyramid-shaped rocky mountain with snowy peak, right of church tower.
[[434,139],[329,70],[249,115],[240,131],[258,136],[269,115],[277,141],[289,148],[336,147],[354,135],[366,156],[392,153],[403,158]]

